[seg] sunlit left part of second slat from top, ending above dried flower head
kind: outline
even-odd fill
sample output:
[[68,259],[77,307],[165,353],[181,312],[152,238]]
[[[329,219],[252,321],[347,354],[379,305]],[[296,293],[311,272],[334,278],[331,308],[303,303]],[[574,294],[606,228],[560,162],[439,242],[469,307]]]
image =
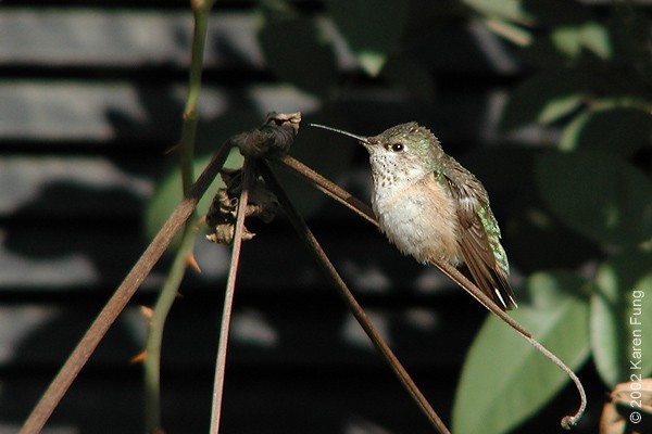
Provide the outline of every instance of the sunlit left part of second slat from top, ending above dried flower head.
[[[261,119],[274,110],[310,113],[316,107],[315,99],[283,86],[253,86],[238,91],[236,97],[233,88],[204,88],[199,115],[204,120],[225,116],[244,101],[260,112]],[[170,148],[179,138],[184,100],[183,86],[0,81],[0,139],[92,143],[120,138],[137,141],[135,146],[160,142]]]

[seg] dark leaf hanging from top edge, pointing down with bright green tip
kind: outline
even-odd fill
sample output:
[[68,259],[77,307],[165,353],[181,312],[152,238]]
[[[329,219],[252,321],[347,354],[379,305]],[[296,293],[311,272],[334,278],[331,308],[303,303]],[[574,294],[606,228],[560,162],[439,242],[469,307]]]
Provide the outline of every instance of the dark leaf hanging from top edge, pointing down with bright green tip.
[[327,0],[326,9],[360,66],[377,76],[403,33],[408,3],[401,0]]

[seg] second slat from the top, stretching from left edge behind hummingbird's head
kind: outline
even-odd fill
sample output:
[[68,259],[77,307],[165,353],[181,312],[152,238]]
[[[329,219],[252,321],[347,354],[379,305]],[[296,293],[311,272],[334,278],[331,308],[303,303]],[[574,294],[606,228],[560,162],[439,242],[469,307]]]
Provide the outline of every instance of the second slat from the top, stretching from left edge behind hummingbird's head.
[[[38,141],[39,146],[62,141],[89,144],[118,141],[122,146],[137,149],[153,144],[160,155],[178,140],[184,98],[183,86],[0,81],[0,139],[28,140],[33,144]],[[409,107],[399,103],[403,98],[393,92],[376,92],[375,97],[368,92],[351,92],[337,108],[343,118],[353,118],[356,125],[365,126],[366,131],[361,133],[377,133],[391,125],[418,120],[430,127],[444,145],[492,142],[500,137],[496,114],[505,103],[500,89],[465,94],[442,92],[437,104],[415,102]],[[200,99],[203,123],[200,128],[203,125],[213,137],[222,135],[225,139],[255,125],[253,118],[242,124],[243,116],[238,118],[238,113],[246,115],[255,111],[256,117],[262,119],[271,111],[301,111],[308,124],[311,114],[319,107],[316,99],[286,86],[251,86],[238,89],[238,94],[234,94],[234,89],[206,86]],[[225,120],[221,122],[222,118]],[[460,123],[460,119],[465,120]],[[371,128],[375,129],[368,131]],[[537,129],[512,137],[532,143],[541,140]],[[301,137],[297,140],[300,143]],[[27,143],[24,146],[29,149]]]

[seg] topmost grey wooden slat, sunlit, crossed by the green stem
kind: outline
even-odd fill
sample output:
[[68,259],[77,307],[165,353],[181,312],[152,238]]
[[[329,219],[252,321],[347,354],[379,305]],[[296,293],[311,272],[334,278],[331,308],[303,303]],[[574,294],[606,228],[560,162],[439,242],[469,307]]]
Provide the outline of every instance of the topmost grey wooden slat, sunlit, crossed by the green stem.
[[[251,14],[213,15],[206,63],[228,66],[246,60],[247,67],[261,68],[255,23]],[[0,41],[4,64],[184,67],[189,62],[192,17],[190,11],[17,9],[3,11],[0,28],[5,35]]]

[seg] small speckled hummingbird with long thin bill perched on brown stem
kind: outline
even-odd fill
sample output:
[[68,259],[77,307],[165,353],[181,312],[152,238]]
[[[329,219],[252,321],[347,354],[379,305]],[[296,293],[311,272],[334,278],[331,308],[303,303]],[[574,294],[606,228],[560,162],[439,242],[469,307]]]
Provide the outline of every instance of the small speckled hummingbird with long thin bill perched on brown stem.
[[372,166],[372,208],[380,231],[422,264],[466,265],[476,285],[503,310],[516,301],[498,221],[482,183],[429,129],[397,125],[373,137],[311,124],[356,139]]

